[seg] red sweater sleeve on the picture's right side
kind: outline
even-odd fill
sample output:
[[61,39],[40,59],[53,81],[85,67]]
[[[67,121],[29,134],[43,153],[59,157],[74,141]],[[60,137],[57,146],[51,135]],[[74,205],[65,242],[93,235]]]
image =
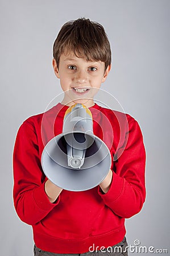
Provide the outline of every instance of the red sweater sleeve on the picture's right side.
[[98,189],[105,204],[115,214],[129,218],[143,206],[145,189],[146,152],[138,122],[131,119],[128,125],[128,139],[122,155],[114,162],[113,179],[106,194]]

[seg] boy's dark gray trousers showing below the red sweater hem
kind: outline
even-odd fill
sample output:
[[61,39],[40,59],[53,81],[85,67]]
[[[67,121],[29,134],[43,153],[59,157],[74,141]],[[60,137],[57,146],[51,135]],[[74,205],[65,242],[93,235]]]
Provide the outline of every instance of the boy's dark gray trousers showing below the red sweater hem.
[[82,254],[49,253],[34,245],[34,256],[128,256],[127,246],[126,237],[123,238],[122,242],[117,243],[117,245],[109,246],[99,251],[88,251],[87,253]]

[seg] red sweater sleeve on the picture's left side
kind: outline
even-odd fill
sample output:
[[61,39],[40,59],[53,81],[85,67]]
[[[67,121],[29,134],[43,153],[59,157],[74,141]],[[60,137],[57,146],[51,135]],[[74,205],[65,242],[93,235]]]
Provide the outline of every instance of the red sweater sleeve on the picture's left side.
[[50,203],[44,191],[45,175],[34,127],[25,121],[16,136],[14,155],[14,206],[20,219],[34,225],[59,203]]

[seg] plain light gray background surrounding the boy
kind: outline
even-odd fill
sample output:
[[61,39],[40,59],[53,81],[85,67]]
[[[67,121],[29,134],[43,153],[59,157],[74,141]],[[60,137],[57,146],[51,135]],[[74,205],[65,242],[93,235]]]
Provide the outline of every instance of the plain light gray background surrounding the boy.
[[[140,123],[147,150],[147,200],[126,221],[128,243],[169,246],[169,11],[165,0],[1,0],[1,255],[31,256],[32,229],[13,207],[12,154],[24,119],[61,93],[52,44],[82,16],[105,27],[113,67],[102,88]],[[170,251],[169,251],[170,253]],[[148,253],[147,255],[149,255]],[[137,255],[136,253],[130,255]]]

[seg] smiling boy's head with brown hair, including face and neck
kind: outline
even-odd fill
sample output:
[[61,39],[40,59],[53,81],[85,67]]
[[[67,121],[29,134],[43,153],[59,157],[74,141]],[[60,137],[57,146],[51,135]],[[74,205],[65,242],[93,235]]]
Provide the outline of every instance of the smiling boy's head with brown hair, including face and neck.
[[64,105],[94,105],[94,95],[111,67],[104,28],[89,19],[67,22],[53,45],[53,69],[64,91]]

